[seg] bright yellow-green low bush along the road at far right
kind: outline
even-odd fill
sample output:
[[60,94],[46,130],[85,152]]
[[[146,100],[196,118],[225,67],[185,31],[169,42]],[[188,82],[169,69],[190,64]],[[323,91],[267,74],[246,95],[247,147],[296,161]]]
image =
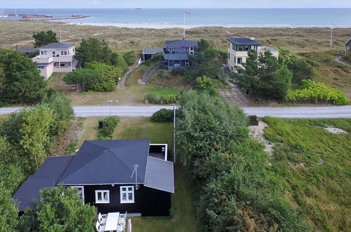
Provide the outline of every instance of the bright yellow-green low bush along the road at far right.
[[333,105],[347,105],[349,103],[343,91],[312,80],[302,81],[302,89],[289,92],[286,101],[331,103]]

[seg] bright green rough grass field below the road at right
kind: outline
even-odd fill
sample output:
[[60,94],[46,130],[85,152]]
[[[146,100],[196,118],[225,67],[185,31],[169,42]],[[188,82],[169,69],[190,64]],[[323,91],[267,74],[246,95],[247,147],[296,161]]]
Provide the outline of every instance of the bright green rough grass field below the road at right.
[[[351,120],[263,120],[264,136],[276,144],[272,171],[286,198],[316,231],[351,228]],[[331,134],[328,126],[348,134]]]

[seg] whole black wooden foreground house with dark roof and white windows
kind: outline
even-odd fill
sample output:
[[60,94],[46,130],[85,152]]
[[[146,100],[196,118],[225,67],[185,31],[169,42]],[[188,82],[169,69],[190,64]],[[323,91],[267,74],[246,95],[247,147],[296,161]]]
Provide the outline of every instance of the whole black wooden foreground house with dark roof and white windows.
[[85,204],[99,212],[167,216],[174,193],[173,163],[167,144],[146,140],[84,141],[77,155],[49,157],[13,198],[20,211],[34,208],[39,191],[51,186],[76,188]]

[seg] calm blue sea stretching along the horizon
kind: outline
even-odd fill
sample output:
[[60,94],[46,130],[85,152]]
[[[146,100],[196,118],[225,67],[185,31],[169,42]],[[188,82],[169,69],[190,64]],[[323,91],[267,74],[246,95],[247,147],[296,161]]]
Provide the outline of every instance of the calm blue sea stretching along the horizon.
[[[82,23],[126,23],[224,27],[351,27],[351,8],[70,8],[1,9],[5,14],[37,14],[53,17],[89,15],[89,18],[60,20]],[[0,20],[20,20],[7,17]]]

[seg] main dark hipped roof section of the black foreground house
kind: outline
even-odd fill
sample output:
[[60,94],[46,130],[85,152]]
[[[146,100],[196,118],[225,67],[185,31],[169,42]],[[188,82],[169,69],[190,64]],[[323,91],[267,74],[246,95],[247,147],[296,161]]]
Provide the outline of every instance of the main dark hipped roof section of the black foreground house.
[[144,183],[148,160],[148,140],[84,141],[70,162],[60,184],[87,185],[135,183],[131,179],[134,165],[138,165],[138,183]]

